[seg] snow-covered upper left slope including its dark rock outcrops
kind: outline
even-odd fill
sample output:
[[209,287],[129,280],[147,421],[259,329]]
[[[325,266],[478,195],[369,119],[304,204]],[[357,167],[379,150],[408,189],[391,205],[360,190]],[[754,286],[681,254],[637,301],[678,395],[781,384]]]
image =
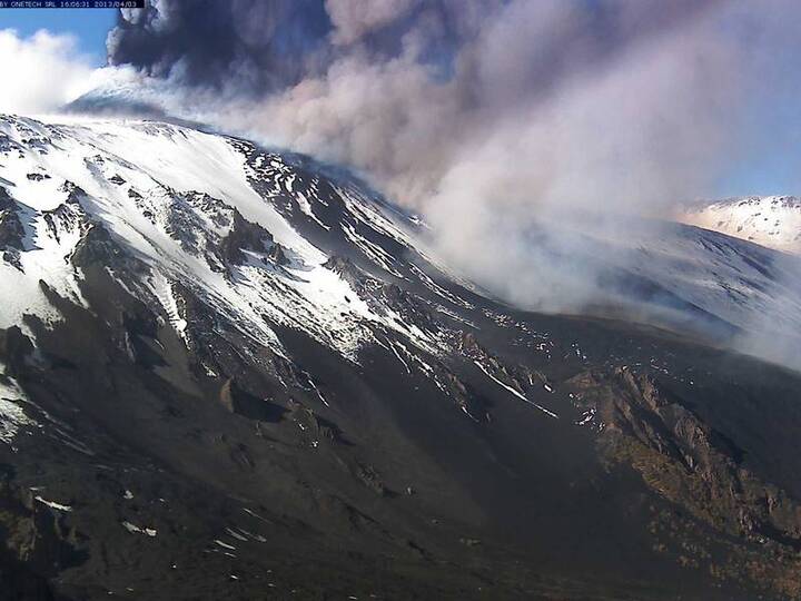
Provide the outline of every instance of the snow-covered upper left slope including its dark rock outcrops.
[[[304,177],[280,156],[243,141],[152,122],[7,117],[0,148],[0,269],[16,290],[0,326],[21,323],[23,313],[58,318],[39,282],[80,300],[80,269],[69,259],[90,229],[102,227],[147,266],[142,293],[161,303],[179,331],[178,285],[201,290],[216,311],[248,324],[254,341],[279,353],[274,325],[300,328],[354,358],[385,331],[429,351],[439,345],[436,333],[368,305],[327,264],[330,256],[290,225],[295,211],[326,233],[335,228],[377,273],[407,277],[415,266],[396,257],[409,249],[404,227],[413,224],[347,184]],[[332,197],[344,210],[328,224]],[[415,277],[433,286],[424,274]]]

